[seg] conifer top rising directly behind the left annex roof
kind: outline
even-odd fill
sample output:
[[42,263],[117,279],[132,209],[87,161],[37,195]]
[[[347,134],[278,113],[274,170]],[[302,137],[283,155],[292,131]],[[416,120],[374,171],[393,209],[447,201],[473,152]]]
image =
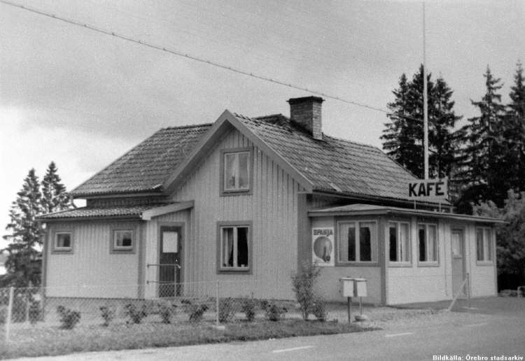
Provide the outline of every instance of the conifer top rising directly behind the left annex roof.
[[55,162],[51,162],[42,179],[43,213],[52,213],[71,208],[71,199],[57,174]]

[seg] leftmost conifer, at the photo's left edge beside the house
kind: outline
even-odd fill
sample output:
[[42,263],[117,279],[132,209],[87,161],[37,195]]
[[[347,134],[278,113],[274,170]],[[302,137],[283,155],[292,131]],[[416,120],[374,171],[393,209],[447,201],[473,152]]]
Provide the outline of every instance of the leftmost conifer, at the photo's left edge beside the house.
[[40,183],[34,169],[29,171],[18,197],[9,211],[11,231],[4,239],[10,241],[3,250],[8,253],[7,274],[1,278],[3,286],[27,287],[40,283],[41,262],[38,247],[42,245],[43,229],[35,218],[42,213]]

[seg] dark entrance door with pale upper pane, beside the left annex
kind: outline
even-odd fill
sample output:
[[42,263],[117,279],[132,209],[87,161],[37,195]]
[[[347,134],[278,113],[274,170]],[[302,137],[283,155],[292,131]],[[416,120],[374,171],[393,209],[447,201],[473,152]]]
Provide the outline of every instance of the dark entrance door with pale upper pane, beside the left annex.
[[160,227],[159,297],[181,295],[182,227]]

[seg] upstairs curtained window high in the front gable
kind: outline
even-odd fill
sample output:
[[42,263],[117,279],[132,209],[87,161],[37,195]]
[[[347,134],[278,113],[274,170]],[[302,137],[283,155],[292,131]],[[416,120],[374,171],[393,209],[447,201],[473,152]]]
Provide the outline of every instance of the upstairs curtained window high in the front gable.
[[250,192],[251,151],[223,151],[221,159],[221,194]]

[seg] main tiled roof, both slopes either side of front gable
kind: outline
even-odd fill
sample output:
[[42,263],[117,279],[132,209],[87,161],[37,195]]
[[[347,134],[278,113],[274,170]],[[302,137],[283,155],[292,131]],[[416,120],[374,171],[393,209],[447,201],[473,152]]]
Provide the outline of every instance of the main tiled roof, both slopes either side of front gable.
[[[315,140],[279,115],[235,115],[255,136],[307,178],[314,190],[407,199],[416,179],[379,148],[323,135]],[[162,192],[162,183],[187,157],[211,124],[161,129],[73,190],[75,197],[123,192]]]

